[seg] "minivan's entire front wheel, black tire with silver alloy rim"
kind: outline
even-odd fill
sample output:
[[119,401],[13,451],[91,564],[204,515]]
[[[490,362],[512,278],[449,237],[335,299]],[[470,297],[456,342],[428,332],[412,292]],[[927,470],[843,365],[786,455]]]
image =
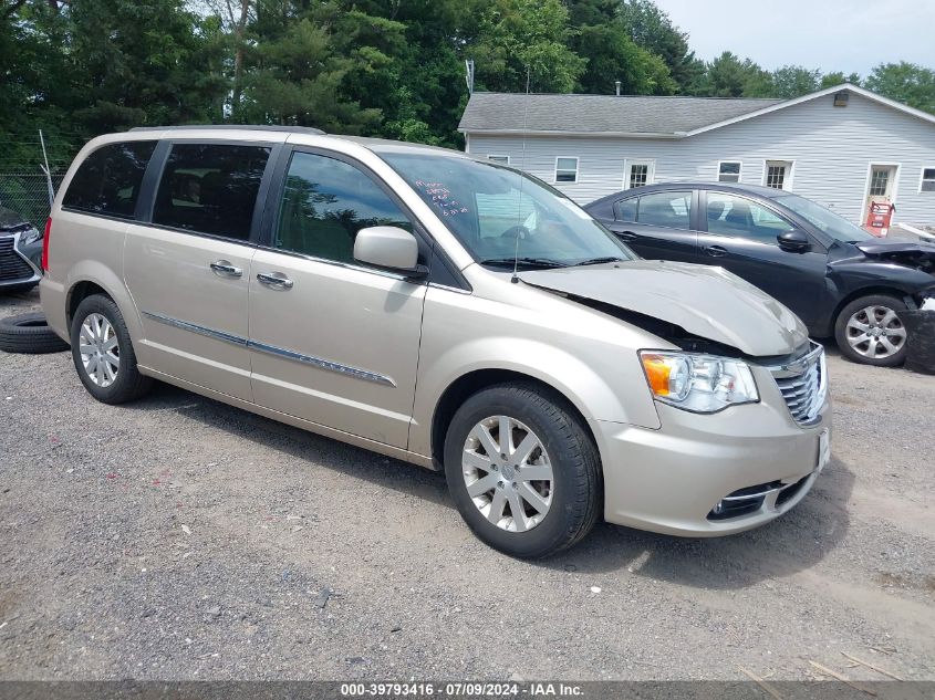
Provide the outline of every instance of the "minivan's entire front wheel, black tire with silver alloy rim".
[[461,518],[510,556],[549,556],[584,537],[602,504],[600,473],[580,419],[534,385],[478,391],[445,438],[445,476]]

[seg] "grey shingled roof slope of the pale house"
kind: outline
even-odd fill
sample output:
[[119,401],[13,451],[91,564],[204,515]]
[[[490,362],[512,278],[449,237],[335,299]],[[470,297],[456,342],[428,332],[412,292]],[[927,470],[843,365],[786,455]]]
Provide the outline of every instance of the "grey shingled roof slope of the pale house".
[[782,101],[630,95],[527,96],[476,92],[468,101],[458,128],[463,132],[674,135],[749,114],[779,102]]

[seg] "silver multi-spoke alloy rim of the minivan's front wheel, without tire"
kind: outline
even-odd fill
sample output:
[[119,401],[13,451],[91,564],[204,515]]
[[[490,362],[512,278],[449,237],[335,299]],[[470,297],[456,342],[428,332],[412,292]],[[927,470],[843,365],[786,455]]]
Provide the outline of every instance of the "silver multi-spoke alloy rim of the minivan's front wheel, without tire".
[[515,418],[491,416],[475,425],[465,440],[461,472],[477,510],[501,530],[532,530],[552,504],[549,455]]

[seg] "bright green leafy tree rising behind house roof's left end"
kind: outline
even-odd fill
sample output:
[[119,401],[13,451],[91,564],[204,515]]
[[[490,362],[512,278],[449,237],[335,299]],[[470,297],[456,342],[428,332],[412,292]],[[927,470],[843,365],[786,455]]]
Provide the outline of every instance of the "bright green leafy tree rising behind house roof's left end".
[[480,86],[567,93],[586,60],[569,49],[568,10],[559,0],[496,0],[482,13],[472,54]]

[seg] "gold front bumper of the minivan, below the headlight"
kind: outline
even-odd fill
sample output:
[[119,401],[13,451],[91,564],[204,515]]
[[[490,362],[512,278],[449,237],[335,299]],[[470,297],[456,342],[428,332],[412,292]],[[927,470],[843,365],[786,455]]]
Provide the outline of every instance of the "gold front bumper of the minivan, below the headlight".
[[[820,446],[830,445],[830,401],[803,427],[769,374],[760,369],[756,378],[758,404],[714,415],[657,404],[658,430],[592,421],[603,462],[604,519],[666,534],[716,536],[762,525],[799,503],[827,458]],[[741,498],[762,498],[733,501],[747,505],[737,515],[714,513],[738,491]]]

